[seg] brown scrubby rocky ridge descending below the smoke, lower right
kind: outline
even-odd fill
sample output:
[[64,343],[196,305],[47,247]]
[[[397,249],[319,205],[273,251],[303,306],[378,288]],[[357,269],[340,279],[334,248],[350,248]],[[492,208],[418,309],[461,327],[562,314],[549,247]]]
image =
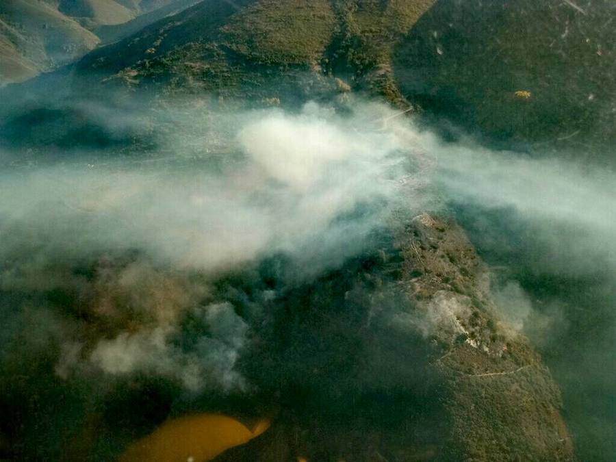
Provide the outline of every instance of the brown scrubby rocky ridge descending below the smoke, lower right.
[[528,341],[498,319],[489,274],[454,222],[428,214],[400,241],[402,281],[440,348],[452,460],[574,460],[560,392]]

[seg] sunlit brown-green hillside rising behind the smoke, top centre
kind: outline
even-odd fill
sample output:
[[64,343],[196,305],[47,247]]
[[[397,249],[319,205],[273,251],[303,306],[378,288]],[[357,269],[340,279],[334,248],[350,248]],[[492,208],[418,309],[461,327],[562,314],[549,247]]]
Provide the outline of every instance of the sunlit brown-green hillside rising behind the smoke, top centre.
[[392,49],[431,3],[205,1],[88,55],[76,70],[89,84],[94,75],[106,84],[221,96],[256,95],[272,76],[335,75],[401,103]]

